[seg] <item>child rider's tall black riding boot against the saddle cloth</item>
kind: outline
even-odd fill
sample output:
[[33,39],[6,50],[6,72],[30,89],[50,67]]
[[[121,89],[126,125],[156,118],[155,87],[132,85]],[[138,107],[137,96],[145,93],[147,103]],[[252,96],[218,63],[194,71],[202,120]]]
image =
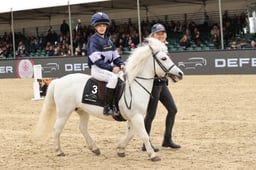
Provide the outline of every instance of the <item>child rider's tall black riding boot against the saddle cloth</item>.
[[114,115],[113,111],[113,95],[115,89],[106,88],[105,105],[103,109],[104,115]]

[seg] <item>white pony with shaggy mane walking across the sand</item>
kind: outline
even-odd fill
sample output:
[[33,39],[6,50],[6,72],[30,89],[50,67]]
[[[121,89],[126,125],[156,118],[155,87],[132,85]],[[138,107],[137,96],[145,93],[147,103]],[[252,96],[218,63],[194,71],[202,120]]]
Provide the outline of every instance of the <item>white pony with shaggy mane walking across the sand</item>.
[[[150,159],[159,161],[161,159],[154,152],[144,127],[144,115],[153,79],[155,75],[167,74],[176,81],[182,79],[183,72],[169,58],[163,43],[154,38],[147,40],[148,44],[135,49],[127,60],[125,87],[119,100],[119,108],[121,116],[127,120],[128,128],[125,137],[118,144],[117,153],[120,157],[125,156],[125,147],[136,132],[145,144]],[[58,156],[64,156],[60,146],[60,134],[73,111],[80,116],[79,129],[89,149],[96,155],[100,154],[100,150],[88,133],[89,116],[114,120],[111,116],[103,115],[103,107],[81,102],[83,89],[89,78],[91,76],[86,74],[70,74],[53,80],[48,87],[35,132],[39,137],[46,137],[54,126],[54,145]]]

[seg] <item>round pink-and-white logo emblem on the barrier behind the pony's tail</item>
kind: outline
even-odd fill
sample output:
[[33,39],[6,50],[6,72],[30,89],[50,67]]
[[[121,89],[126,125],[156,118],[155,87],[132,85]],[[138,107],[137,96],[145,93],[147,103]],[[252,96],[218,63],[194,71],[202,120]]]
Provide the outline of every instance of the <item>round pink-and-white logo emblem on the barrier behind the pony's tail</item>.
[[16,72],[19,78],[32,78],[33,77],[34,62],[29,59],[19,60],[16,65]]

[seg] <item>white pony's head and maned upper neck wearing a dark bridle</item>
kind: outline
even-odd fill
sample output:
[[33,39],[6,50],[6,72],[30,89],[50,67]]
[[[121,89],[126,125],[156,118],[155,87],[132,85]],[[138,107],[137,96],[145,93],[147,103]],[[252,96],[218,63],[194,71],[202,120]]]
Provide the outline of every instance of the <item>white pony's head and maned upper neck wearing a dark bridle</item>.
[[139,73],[147,69],[147,75],[152,77],[167,75],[174,81],[182,79],[183,72],[168,56],[166,45],[155,38],[147,38],[147,42],[147,45],[136,48],[128,58],[126,66],[128,80],[135,79]]

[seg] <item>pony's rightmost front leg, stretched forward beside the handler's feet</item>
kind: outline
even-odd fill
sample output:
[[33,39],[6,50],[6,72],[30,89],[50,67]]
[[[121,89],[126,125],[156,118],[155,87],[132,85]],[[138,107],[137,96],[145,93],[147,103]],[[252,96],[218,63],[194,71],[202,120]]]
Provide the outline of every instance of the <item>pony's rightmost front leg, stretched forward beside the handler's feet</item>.
[[150,159],[152,161],[160,161],[160,157],[158,157],[156,155],[156,153],[154,152],[150,141],[149,141],[149,135],[145,129],[145,125],[144,125],[144,117],[142,114],[135,114],[132,118],[131,118],[131,123],[132,126],[134,127],[134,131],[138,133],[139,137],[142,139],[143,143],[145,144],[146,150],[150,156]]

